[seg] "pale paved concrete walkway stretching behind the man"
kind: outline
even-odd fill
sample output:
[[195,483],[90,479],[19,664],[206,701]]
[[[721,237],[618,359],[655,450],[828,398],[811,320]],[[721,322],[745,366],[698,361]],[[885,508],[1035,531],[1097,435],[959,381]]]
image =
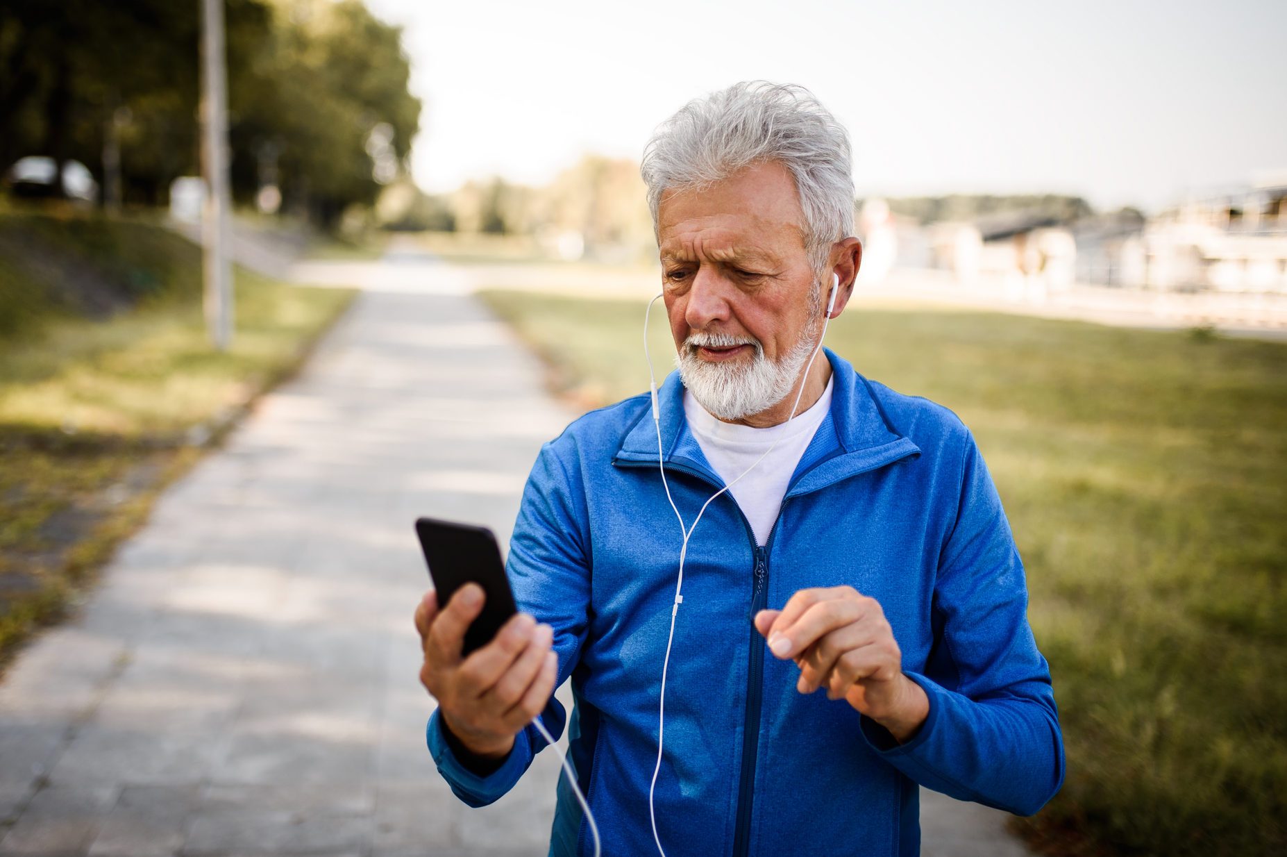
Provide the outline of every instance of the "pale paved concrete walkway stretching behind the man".
[[[10,667],[0,856],[546,853],[555,754],[467,809],[425,749],[412,522],[507,539],[539,444],[574,414],[449,272],[413,268],[371,266],[393,287]],[[1001,813],[925,798],[927,854],[1024,853]]]

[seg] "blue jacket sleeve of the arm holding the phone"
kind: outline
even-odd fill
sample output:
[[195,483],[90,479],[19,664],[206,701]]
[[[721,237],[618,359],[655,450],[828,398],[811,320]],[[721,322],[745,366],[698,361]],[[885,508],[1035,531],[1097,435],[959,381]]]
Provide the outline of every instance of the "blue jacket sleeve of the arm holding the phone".
[[[506,561],[519,610],[553,627],[553,649],[559,655],[556,687],[571,674],[589,624],[586,495],[582,484],[569,479],[560,461],[560,448],[566,452],[571,447],[566,438],[565,434],[544,444],[537,456],[523,490]],[[541,719],[550,735],[559,739],[566,719],[562,704],[551,696]],[[547,744],[529,724],[515,736],[514,749],[501,767],[479,776],[452,751],[438,710],[429,719],[426,739],[439,773],[456,797],[471,807],[483,807],[503,797]]]

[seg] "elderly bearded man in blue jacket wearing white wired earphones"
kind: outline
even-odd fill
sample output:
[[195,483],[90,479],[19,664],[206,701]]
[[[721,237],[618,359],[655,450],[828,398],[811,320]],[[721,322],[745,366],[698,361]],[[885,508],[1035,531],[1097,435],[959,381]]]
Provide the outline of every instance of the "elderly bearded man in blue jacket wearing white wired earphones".
[[[918,785],[1036,812],[1063,744],[974,440],[820,351],[861,261],[844,130],[801,88],[739,84],[663,125],[642,174],[678,372],[655,410],[541,449],[521,613],[492,643],[461,658],[475,587],[417,609],[439,771],[503,795],[570,677],[607,854],[915,854]],[[564,777],[551,853],[592,847]]]

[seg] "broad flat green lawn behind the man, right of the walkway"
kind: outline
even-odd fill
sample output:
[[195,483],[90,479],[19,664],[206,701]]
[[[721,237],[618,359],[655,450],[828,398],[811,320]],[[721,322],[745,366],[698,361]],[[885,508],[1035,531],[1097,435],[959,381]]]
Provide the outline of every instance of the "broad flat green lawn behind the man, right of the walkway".
[[[485,299],[586,407],[646,390],[641,304]],[[1058,854],[1287,853],[1287,345],[861,304],[828,345],[956,412],[996,480],[1068,757],[1021,833]]]

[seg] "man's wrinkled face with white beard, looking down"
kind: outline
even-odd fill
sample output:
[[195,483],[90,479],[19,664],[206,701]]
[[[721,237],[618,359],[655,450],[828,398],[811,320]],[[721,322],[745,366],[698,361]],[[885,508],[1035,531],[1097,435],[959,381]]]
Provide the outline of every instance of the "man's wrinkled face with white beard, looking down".
[[[816,344],[820,293],[803,223],[795,183],[776,161],[662,196],[658,238],[671,333],[687,368],[685,383],[717,417],[736,419],[746,416],[734,413],[744,407],[776,404]],[[713,407],[718,394],[704,398],[699,378],[759,391],[727,399],[731,410],[721,413]]]

